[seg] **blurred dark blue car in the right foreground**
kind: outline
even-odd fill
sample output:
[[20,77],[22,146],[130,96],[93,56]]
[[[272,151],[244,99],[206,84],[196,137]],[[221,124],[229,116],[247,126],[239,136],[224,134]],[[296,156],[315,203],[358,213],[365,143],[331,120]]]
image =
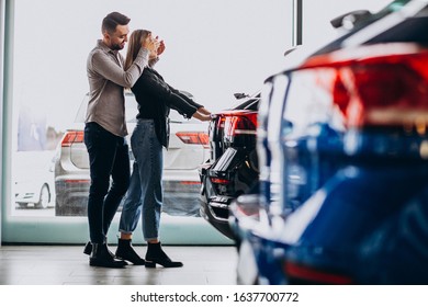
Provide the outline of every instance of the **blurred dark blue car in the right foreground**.
[[240,283],[428,284],[428,1],[359,16],[266,81]]

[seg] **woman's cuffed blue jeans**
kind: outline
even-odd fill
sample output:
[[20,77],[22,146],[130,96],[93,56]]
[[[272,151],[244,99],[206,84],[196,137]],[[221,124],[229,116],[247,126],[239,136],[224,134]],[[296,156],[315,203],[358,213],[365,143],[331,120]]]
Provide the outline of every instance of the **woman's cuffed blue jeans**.
[[162,207],[164,157],[153,120],[138,120],[131,136],[131,148],[135,161],[119,230],[132,234],[142,216],[144,239],[146,241],[158,239]]

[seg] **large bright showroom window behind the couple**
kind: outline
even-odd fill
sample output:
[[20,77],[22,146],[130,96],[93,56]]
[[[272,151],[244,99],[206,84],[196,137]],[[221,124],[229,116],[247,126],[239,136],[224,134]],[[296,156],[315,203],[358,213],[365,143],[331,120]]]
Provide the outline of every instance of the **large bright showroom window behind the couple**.
[[[137,0],[120,4],[113,0],[20,0],[2,1],[2,5],[3,242],[87,240],[85,212],[58,209],[56,193],[61,187],[58,182],[72,186],[89,183],[79,130],[88,91],[86,58],[101,38],[101,21],[109,12],[131,16],[131,31],[149,29],[159,35],[167,49],[156,68],[170,84],[191,93],[213,112],[234,104],[236,92],[258,91],[267,77],[281,70],[283,53],[293,44],[292,1],[162,0],[144,7]],[[135,107],[128,110],[132,122]],[[68,157],[64,158],[61,150]],[[61,162],[69,177],[57,172],[63,158],[68,159]],[[72,168],[78,170],[72,173]],[[63,187],[67,191],[70,185]],[[198,197],[194,187],[189,184],[194,194],[187,197]],[[78,196],[83,194],[76,193],[65,203],[76,202],[78,207],[82,202]],[[174,213],[162,216],[164,241],[228,243],[198,217],[196,206],[198,202],[192,207],[171,203]],[[110,231],[112,240],[117,219],[119,214]],[[201,236],[194,238],[193,234]]]

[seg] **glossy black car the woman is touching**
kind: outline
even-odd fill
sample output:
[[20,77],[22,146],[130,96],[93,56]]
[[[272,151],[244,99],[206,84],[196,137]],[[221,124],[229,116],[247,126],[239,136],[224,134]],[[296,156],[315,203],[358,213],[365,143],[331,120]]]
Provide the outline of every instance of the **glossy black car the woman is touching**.
[[[216,114],[209,127],[210,159],[200,166],[201,216],[233,239],[229,205],[239,195],[258,190],[256,129],[259,93]],[[255,190],[256,189],[256,190]]]

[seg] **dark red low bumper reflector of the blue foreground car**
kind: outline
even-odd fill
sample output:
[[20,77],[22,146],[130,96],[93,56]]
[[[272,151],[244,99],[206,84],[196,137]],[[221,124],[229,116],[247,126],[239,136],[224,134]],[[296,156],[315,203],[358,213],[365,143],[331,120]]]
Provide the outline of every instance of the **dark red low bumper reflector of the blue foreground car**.
[[351,285],[351,277],[343,274],[320,271],[311,266],[285,262],[284,273],[291,283],[299,284],[326,284],[326,285]]

